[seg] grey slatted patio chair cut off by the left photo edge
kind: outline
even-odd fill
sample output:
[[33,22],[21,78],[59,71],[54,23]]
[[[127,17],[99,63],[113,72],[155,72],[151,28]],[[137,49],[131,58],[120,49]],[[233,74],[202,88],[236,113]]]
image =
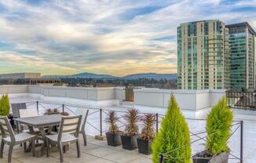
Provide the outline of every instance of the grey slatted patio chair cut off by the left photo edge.
[[9,145],[8,162],[11,162],[13,147],[16,145],[19,145],[20,143],[27,143],[27,142],[31,142],[32,154],[33,154],[33,157],[35,157],[35,136],[34,135],[31,135],[27,132],[20,132],[15,135],[11,125],[9,124],[8,118],[4,116],[0,116],[0,130],[2,133],[0,158],[2,158],[3,156],[3,150],[4,150],[5,144]]

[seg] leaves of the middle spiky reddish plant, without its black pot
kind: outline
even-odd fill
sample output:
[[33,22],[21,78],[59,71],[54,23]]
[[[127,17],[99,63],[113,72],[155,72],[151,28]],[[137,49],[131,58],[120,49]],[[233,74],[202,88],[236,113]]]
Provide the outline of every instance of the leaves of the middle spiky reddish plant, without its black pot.
[[124,115],[124,120],[127,122],[125,134],[126,136],[135,136],[139,132],[137,122],[139,121],[138,117],[139,111],[136,109],[128,110]]

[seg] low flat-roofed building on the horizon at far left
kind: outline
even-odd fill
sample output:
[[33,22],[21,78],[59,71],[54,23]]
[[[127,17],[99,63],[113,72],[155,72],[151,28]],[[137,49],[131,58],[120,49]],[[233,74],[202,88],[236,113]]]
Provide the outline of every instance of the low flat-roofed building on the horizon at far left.
[[60,78],[41,78],[40,73],[0,74],[0,85],[62,85]]

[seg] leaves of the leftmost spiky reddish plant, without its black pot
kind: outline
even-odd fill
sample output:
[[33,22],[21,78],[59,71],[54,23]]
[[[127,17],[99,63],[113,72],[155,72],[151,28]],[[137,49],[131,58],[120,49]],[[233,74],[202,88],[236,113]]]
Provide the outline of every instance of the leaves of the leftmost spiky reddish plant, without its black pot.
[[108,132],[111,132],[113,134],[119,132],[119,127],[116,125],[116,122],[118,120],[119,120],[119,118],[115,114],[115,111],[110,110],[108,112],[108,118],[106,119],[106,122],[108,123]]

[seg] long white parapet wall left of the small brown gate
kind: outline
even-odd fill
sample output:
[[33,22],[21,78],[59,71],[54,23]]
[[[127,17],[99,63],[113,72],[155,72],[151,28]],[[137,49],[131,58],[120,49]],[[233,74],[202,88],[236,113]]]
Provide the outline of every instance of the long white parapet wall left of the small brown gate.
[[[114,87],[111,88],[83,88],[57,87],[43,85],[0,85],[0,95],[31,96],[38,100],[53,103],[67,103],[86,107],[111,107],[119,105]],[[122,93],[122,92],[121,92]]]

